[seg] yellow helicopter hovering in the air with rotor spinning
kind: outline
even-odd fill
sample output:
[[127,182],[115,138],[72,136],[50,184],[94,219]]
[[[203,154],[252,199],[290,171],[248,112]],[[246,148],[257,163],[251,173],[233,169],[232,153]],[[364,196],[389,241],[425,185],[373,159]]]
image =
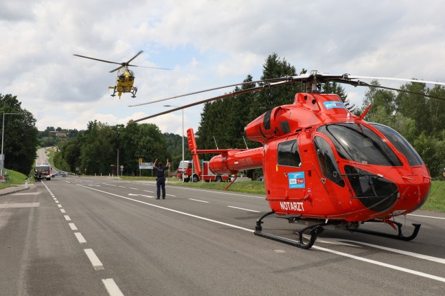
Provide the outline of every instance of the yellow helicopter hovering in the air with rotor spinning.
[[143,52],[142,50],[138,52],[135,56],[133,56],[133,58],[130,58],[128,62],[111,62],[109,60],[101,60],[99,58],[90,58],[89,56],[80,56],[79,54],[73,54],[73,56],[80,56],[80,58],[89,58],[91,60],[99,60],[100,62],[109,62],[111,64],[120,65],[116,69],[110,71],[110,73],[117,71],[117,79],[115,86],[109,87],[109,89],[113,89],[113,94],[111,96],[114,97],[117,93],[120,100],[122,93],[131,93],[132,94],[131,98],[136,98],[137,87],[133,87],[133,83],[135,82],[135,74],[133,73],[133,71],[128,69],[128,67],[143,67],[151,69],[171,70],[166,68],[130,65],[130,62],[134,60],[137,56],[139,56],[139,54],[141,54],[142,52]]

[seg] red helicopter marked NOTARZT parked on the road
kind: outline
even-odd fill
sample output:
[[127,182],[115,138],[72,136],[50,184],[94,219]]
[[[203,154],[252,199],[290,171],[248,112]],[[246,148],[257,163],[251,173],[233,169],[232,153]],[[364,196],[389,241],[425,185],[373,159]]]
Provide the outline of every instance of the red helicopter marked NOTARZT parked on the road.
[[[356,116],[350,113],[338,95],[321,93],[321,83],[326,82],[375,87],[361,79],[376,78],[328,75],[316,71],[276,78],[267,80],[269,83],[260,87],[227,93],[133,122],[240,93],[303,82],[308,92],[297,93],[292,104],[277,106],[244,128],[248,139],[262,144],[260,148],[198,150],[192,128],[187,130],[194,166],[201,170],[198,154],[218,153],[209,162],[209,169],[214,174],[236,176],[240,170],[263,169],[266,201],[271,212],[257,220],[257,236],[310,249],[323,227],[331,226],[334,229],[412,240],[418,235],[420,225],[413,224],[412,234],[405,236],[402,223],[394,217],[414,212],[425,203],[432,179],[429,170],[414,148],[396,130],[363,120],[370,106],[362,115]],[[445,85],[423,80],[402,81]],[[152,102],[144,104],[149,103]],[[298,240],[264,233],[262,220],[271,214],[286,218],[289,223],[304,225],[298,231]],[[397,234],[360,228],[364,223],[371,222],[390,225]],[[306,231],[310,232],[308,241],[303,237]]]

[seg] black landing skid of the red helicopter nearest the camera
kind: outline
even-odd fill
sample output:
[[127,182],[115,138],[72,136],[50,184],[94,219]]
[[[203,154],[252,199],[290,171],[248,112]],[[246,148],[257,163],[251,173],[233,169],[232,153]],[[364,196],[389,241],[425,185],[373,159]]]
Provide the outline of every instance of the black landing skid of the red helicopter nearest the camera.
[[[315,225],[315,226],[312,225],[310,227],[306,227],[304,229],[301,229],[300,231],[298,231],[298,234],[299,234],[299,240],[298,241],[290,240],[288,238],[282,238],[281,236],[275,236],[273,234],[266,234],[265,232],[262,232],[262,226],[261,226],[262,223],[263,223],[262,219],[266,218],[266,216],[269,216],[271,214],[275,214],[275,212],[274,211],[268,212],[268,213],[264,214],[263,216],[261,216],[257,220],[256,226],[255,226],[255,232],[254,232],[255,236],[261,236],[263,238],[269,238],[269,240],[275,240],[277,242],[283,242],[284,244],[290,244],[291,246],[298,247],[298,248],[301,248],[301,249],[310,249],[314,245],[315,240],[317,240],[317,236],[319,234],[321,234],[323,232],[323,230],[324,230],[323,227],[321,227],[321,225],[324,225],[324,223],[321,224],[321,225]],[[303,233],[306,230],[310,230],[310,239],[309,239],[309,242],[307,242],[307,243],[303,242]]]

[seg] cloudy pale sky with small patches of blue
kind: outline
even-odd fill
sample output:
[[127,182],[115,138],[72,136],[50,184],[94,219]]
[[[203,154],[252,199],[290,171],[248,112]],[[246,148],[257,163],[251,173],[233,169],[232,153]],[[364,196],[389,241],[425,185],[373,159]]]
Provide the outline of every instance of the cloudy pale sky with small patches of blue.
[[[440,0],[16,0],[0,2],[0,93],[47,126],[126,124],[259,80],[276,53],[299,69],[445,82],[445,2]],[[117,65],[133,65],[137,97],[111,97]],[[395,82],[380,82],[394,87]],[[361,106],[364,88],[345,86]],[[229,100],[229,99],[226,99]],[[289,98],[292,102],[293,98]],[[162,133],[198,128],[203,105],[144,122]],[[258,114],[260,115],[260,114]],[[223,128],[223,127],[222,127]]]

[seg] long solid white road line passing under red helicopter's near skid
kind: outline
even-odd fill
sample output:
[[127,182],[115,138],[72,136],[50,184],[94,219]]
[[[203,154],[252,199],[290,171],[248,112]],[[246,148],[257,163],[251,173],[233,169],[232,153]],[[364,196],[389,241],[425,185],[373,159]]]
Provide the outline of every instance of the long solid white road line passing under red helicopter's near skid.
[[[102,191],[102,190],[94,189],[94,188],[87,187],[87,186],[83,186],[83,185],[78,185],[78,186],[87,188],[87,189],[89,189],[89,190],[95,190],[95,191],[98,191],[98,192],[102,192],[102,193],[104,193],[104,194],[109,194],[109,195],[117,196],[117,197],[120,197],[120,198],[128,199],[128,200],[130,200],[130,201],[135,201],[136,203],[143,203],[144,205],[150,205],[151,207],[157,207],[157,208],[159,208],[159,209],[165,209],[166,211],[174,212],[174,213],[177,213],[177,214],[183,214],[183,215],[185,215],[185,216],[190,216],[190,217],[193,217],[193,218],[198,218],[198,219],[201,219],[201,220],[206,220],[206,221],[209,221],[209,222],[212,222],[212,223],[217,223],[217,224],[220,224],[220,225],[225,225],[225,226],[233,227],[233,228],[236,228],[236,229],[241,229],[241,230],[244,230],[244,231],[254,232],[253,229],[248,229],[248,228],[240,227],[240,226],[233,225],[233,224],[229,224],[229,223],[224,223],[224,222],[221,222],[221,221],[218,221],[218,220],[213,220],[213,219],[209,219],[209,218],[205,218],[205,217],[201,217],[201,216],[196,216],[196,215],[193,215],[193,214],[188,214],[188,213],[181,212],[181,211],[176,211],[176,209],[169,209],[168,207],[161,207],[160,205],[153,205],[153,204],[151,204],[151,203],[145,203],[144,201],[138,201],[137,199],[128,198],[128,197],[126,197],[126,196],[120,196],[120,195],[118,195],[118,194],[113,194],[113,193],[110,193],[110,192],[105,192],[105,191]],[[419,275],[419,276],[421,276],[421,277],[428,277],[428,278],[430,278],[430,279],[432,279],[432,280],[437,280],[437,281],[440,281],[440,282],[445,282],[445,277],[437,277],[437,276],[435,276],[435,275],[429,275],[428,273],[421,273],[421,272],[419,272],[419,271],[413,271],[413,270],[411,270],[411,269],[405,269],[405,268],[400,267],[400,266],[396,266],[396,265],[392,265],[392,264],[387,264],[387,263],[383,263],[383,262],[378,262],[378,261],[376,261],[376,260],[369,260],[369,259],[366,259],[366,258],[358,257],[358,256],[356,256],[356,255],[351,255],[351,254],[347,254],[347,253],[342,253],[342,252],[338,252],[338,251],[334,251],[334,250],[330,250],[330,249],[326,249],[326,248],[322,248],[322,247],[318,247],[318,246],[312,246],[312,248],[314,248],[314,249],[318,249],[318,250],[320,250],[320,251],[326,251],[326,252],[328,252],[328,253],[334,253],[334,254],[336,254],[336,255],[341,255],[341,256],[344,256],[344,257],[347,257],[347,258],[352,258],[352,259],[355,259],[355,260],[360,260],[360,261],[363,261],[363,262],[367,262],[367,263],[371,263],[371,264],[376,264],[376,265],[379,265],[379,266],[384,266],[384,267],[387,267],[387,268],[389,268],[389,269],[396,269],[396,270],[398,270],[398,271],[402,271],[402,272],[405,272],[405,273],[411,273],[411,274],[413,274],[413,275]]]

